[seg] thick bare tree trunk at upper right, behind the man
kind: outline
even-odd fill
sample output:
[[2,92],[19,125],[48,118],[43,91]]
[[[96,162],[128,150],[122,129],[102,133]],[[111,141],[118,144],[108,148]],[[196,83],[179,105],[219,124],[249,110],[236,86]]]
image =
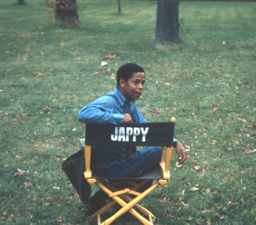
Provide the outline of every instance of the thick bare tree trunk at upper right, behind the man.
[[156,41],[175,41],[178,35],[178,1],[157,1]]

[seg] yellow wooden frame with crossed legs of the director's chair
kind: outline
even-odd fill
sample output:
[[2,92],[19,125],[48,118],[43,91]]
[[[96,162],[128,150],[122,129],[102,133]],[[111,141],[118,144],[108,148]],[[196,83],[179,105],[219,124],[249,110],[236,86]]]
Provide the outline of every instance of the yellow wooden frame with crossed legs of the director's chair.
[[[175,124],[175,118],[172,118],[171,120],[172,124]],[[172,139],[173,139],[173,133],[174,128],[172,132]],[[84,139],[81,139],[81,144],[84,143]],[[157,182],[154,183],[151,187],[149,187],[147,190],[145,190],[142,193],[137,192],[136,190],[139,189],[139,187],[142,187],[143,184],[145,184],[149,179],[143,179],[141,177],[135,178],[120,178],[114,179],[114,181],[109,183],[107,180],[109,178],[101,178],[98,176],[93,176],[93,172],[90,169],[90,163],[91,163],[91,145],[84,144],[84,157],[85,157],[85,172],[84,172],[84,178],[86,178],[87,182],[91,185],[96,184],[99,188],[101,188],[108,196],[111,198],[111,201],[105,205],[104,207],[100,208],[99,211],[96,211],[92,217],[97,217],[98,224],[111,224],[114,220],[116,220],[121,215],[125,214],[127,211],[130,212],[130,214],[133,214],[134,217],[136,217],[138,220],[140,220],[143,224],[153,224],[153,218],[155,217],[154,214],[151,213],[151,211],[148,211],[148,209],[142,207],[142,205],[139,205],[139,202],[145,198],[145,196],[148,196],[151,191],[156,189],[157,187],[164,186],[167,184],[167,181],[170,179],[170,172],[169,172],[169,166],[170,161],[172,159],[172,150],[173,150],[173,144],[172,146],[162,146],[161,151],[161,157],[159,162],[159,169],[162,175],[162,178],[158,178]],[[154,178],[153,178],[154,179]],[[126,184],[129,184],[129,188],[123,188],[122,190],[117,189],[117,184],[125,182]],[[130,197],[130,195],[136,196],[134,198]],[[108,211],[109,208],[114,206],[115,204],[120,205],[120,210],[118,210],[116,213],[111,215],[111,217],[108,217],[105,221],[102,222],[101,215],[104,214],[106,211]],[[135,208],[141,213],[139,214],[138,211],[135,210]],[[142,215],[143,214],[143,215]]]

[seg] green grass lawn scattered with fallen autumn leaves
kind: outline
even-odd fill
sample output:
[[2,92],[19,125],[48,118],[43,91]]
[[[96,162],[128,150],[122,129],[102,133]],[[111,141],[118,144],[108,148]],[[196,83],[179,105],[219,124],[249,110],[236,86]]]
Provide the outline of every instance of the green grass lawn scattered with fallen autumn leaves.
[[149,121],[175,116],[190,150],[179,168],[174,154],[168,187],[144,200],[155,223],[255,222],[255,3],[181,2],[183,43],[160,44],[155,1],[121,1],[120,15],[116,1],[79,1],[74,29],[26,2],[0,4],[0,223],[96,223],[61,163],[84,136],[78,111],[114,89],[111,74],[126,62],[146,71],[139,110]]

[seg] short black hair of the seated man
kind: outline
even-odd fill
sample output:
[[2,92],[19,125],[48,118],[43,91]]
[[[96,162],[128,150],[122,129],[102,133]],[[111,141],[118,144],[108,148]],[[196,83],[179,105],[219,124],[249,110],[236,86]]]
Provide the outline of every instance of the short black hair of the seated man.
[[125,65],[120,66],[120,68],[117,71],[117,86],[120,86],[119,81],[121,78],[127,82],[134,73],[145,73],[144,69],[136,65],[134,63],[126,63]]

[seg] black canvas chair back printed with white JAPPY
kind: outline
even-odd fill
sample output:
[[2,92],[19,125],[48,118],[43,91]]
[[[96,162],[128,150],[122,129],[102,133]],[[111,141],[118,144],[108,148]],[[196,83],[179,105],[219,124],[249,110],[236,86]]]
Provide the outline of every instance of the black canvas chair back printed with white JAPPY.
[[167,146],[173,144],[174,123],[87,124],[86,145]]

